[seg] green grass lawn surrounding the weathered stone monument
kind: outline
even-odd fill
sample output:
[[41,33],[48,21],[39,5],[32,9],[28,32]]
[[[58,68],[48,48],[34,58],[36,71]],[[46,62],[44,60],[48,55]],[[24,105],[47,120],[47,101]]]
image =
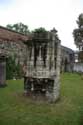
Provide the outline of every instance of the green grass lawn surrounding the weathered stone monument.
[[83,125],[83,80],[61,76],[61,98],[55,104],[36,103],[23,96],[23,81],[0,88],[0,125]]

